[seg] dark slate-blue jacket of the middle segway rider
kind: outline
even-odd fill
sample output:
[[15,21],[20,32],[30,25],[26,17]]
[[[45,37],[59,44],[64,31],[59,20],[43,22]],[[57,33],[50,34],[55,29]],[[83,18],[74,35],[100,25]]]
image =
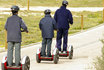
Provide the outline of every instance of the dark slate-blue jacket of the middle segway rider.
[[47,14],[40,20],[39,27],[42,31],[43,38],[53,38],[54,30],[56,29],[56,21]]

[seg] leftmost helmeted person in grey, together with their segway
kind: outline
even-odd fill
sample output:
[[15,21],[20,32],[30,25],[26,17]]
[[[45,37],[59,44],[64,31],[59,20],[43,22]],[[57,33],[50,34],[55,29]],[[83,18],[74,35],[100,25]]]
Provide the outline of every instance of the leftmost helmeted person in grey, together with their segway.
[[[3,57],[2,60],[2,70],[12,70],[12,69],[19,69],[19,70],[29,70],[30,67],[30,59],[28,56],[21,60],[21,32],[28,33],[27,26],[25,25],[24,21],[21,17],[18,16],[19,11],[18,6],[12,6],[11,12],[12,16],[8,17],[5,30],[7,31],[7,43],[8,43],[8,50],[7,56]],[[21,30],[22,29],[22,30]],[[15,63],[13,63],[13,48],[15,47]]]

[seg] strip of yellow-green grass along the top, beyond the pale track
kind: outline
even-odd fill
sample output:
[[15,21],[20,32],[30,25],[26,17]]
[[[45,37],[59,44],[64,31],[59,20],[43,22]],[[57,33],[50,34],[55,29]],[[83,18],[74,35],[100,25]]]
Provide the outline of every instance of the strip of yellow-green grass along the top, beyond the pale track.
[[[11,7],[15,0],[0,0],[0,6]],[[27,6],[28,0],[16,0],[16,5]],[[30,0],[30,6],[61,6],[63,0]],[[69,7],[102,7],[102,0],[67,0]]]

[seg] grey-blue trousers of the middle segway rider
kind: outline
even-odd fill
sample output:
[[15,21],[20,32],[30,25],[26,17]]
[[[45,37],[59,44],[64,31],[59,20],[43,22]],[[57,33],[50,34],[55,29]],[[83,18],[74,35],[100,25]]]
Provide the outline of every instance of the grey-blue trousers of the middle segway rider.
[[51,56],[51,44],[52,44],[52,38],[43,38],[42,41],[42,49],[41,49],[41,55],[46,56],[46,46],[47,46],[47,56]]

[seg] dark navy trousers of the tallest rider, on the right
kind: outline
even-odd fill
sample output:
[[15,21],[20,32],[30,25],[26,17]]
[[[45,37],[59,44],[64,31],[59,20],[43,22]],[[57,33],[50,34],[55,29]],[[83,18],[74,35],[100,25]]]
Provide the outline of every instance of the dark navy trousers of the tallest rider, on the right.
[[63,51],[67,51],[67,39],[68,39],[68,29],[58,29],[57,31],[57,48],[59,51],[61,50],[63,37]]

